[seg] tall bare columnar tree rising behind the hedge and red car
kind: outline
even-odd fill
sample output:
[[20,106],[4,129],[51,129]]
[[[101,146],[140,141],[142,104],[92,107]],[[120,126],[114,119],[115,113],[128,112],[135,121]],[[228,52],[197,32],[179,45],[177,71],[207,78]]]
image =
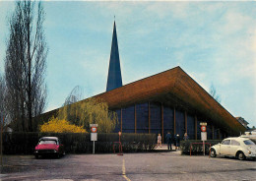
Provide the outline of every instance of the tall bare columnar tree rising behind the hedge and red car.
[[[44,11],[40,2],[18,1],[9,20],[5,78],[7,110],[17,131],[33,131],[32,117],[45,108],[47,47],[44,38]],[[36,13],[34,13],[36,10]]]

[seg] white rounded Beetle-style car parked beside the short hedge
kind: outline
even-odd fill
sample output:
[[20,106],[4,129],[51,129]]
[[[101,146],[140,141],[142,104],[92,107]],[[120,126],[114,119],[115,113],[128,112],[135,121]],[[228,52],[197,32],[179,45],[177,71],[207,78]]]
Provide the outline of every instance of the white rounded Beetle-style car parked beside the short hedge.
[[256,145],[249,139],[233,137],[224,139],[222,144],[210,148],[211,157],[217,155],[235,156],[238,159],[256,158]]

